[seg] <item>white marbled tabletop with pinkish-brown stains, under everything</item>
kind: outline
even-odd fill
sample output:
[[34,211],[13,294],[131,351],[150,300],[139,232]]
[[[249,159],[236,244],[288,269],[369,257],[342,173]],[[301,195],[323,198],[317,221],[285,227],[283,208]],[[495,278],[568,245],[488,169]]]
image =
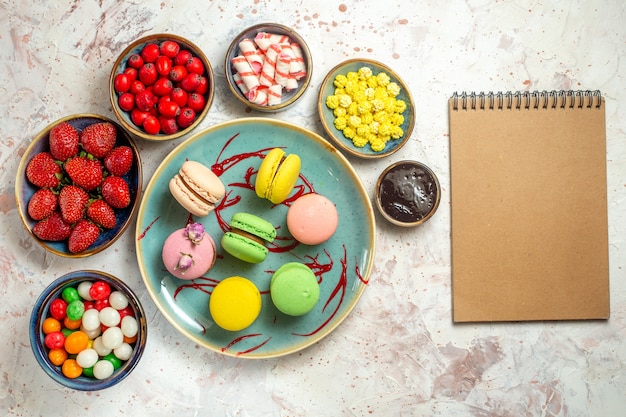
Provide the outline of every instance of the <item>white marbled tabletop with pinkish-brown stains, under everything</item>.
[[[382,61],[417,99],[408,145],[352,160],[373,192],[401,158],[427,163],[444,194],[433,219],[399,230],[378,218],[376,267],[359,304],[329,337],[273,360],[194,345],[142,287],[133,231],[81,260],[46,253],[23,230],[19,159],[48,123],[73,113],[114,117],[110,67],[134,38],[176,33],[213,62],[216,96],[201,128],[255,115],[229,94],[223,57],[243,28],[293,27],[314,54],[310,90],[283,113],[322,133],[317,89],[351,57]],[[11,416],[617,416],[626,408],[626,6],[622,0],[85,0],[0,2],[0,414]],[[455,90],[600,89],[606,98],[611,318],[600,322],[454,325],[446,99]],[[138,142],[149,180],[184,138]],[[593,192],[593,190],[589,190]],[[27,337],[34,299],[84,268],[123,277],[149,317],[145,355],[122,384],[74,392],[37,366]]]

